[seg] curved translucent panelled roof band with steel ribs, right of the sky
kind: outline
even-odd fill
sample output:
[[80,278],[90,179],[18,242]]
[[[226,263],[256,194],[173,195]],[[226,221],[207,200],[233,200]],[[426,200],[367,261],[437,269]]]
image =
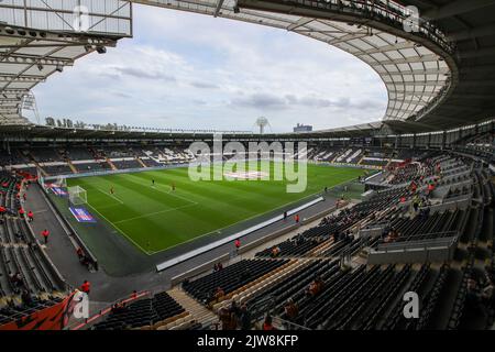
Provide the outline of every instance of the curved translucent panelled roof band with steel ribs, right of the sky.
[[419,28],[411,26],[408,20],[413,12],[393,1],[133,2],[278,28],[351,53],[369,64],[385,82],[388,90],[385,121],[422,118],[457,84],[454,45],[429,22],[418,22]]

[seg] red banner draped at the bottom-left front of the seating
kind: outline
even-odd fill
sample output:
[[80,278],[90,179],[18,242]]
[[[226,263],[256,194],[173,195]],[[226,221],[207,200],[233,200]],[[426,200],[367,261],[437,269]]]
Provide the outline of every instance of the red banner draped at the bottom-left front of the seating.
[[73,309],[74,294],[59,304],[0,326],[0,330],[62,330]]

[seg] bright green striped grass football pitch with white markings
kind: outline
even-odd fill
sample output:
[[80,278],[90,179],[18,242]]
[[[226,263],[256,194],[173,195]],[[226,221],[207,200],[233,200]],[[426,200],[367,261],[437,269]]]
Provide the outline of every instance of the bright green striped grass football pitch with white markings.
[[88,210],[141,251],[154,254],[272,210],[282,211],[364,173],[308,164],[307,189],[300,194],[286,193],[287,182],[193,182],[188,168],[73,178],[67,184],[85,188]]

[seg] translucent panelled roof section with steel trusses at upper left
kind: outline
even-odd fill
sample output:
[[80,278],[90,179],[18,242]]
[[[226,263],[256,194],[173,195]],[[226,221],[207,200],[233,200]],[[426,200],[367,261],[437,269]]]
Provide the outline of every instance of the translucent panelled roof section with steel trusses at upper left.
[[128,1],[85,1],[86,9],[78,12],[79,2],[0,3],[0,125],[28,123],[21,110],[35,85],[77,58],[105,52],[132,35]]

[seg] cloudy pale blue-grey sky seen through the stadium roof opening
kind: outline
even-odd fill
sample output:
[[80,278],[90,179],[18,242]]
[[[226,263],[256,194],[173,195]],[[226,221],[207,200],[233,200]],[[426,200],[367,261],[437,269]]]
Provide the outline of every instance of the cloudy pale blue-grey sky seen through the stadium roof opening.
[[358,58],[305,36],[134,6],[134,37],[34,89],[42,118],[177,129],[316,129],[380,120],[384,84]]

